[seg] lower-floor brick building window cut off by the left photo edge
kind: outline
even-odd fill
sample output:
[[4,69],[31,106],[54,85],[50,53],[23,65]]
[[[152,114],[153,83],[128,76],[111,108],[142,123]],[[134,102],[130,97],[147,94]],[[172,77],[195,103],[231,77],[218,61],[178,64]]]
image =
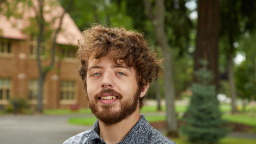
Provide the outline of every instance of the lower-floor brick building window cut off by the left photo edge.
[[0,78],[0,100],[9,100],[11,91],[11,80]]

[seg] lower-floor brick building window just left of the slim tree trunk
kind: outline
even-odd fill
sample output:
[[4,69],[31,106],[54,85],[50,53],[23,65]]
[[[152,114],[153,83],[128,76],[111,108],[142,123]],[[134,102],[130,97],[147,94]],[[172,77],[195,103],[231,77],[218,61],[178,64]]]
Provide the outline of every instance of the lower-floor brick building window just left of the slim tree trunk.
[[29,80],[29,100],[37,100],[38,96],[38,80]]

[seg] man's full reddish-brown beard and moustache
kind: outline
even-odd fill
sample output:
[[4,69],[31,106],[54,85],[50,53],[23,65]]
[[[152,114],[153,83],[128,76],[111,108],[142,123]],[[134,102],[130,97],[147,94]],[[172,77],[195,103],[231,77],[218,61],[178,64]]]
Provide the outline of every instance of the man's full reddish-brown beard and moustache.
[[[110,93],[118,97],[118,101],[120,102],[120,110],[112,110],[115,107],[115,104],[104,104],[100,106],[97,105],[99,96],[104,93]],[[94,101],[89,100],[88,94],[87,99],[89,100],[89,108],[91,109],[91,112],[96,116],[96,118],[102,121],[106,126],[111,126],[126,118],[129,118],[129,116],[136,111],[140,94],[141,89],[137,88],[131,99],[122,101],[123,95],[121,95],[119,92],[113,89],[102,89],[98,94],[94,95]],[[101,107],[101,110],[99,110],[99,107]]]

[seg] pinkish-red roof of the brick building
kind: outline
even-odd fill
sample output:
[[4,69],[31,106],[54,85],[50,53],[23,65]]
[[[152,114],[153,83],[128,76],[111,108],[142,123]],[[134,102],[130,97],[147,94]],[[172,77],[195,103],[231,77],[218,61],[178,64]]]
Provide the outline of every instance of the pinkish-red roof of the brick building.
[[[53,22],[51,25],[52,29],[56,30],[64,9],[61,6],[51,8],[45,6],[44,11],[48,11],[47,13],[44,13],[44,19],[47,22]],[[35,17],[35,13],[33,13],[32,10],[25,11],[23,13],[23,19],[14,19],[13,17],[7,19],[6,16],[0,14],[0,37],[26,40],[26,35],[22,33],[22,29],[29,26],[29,22],[27,20],[29,17]],[[56,43],[76,46],[78,44],[77,40],[81,36],[82,33],[78,29],[77,25],[74,23],[70,15],[65,13],[61,24],[61,30],[56,38]]]

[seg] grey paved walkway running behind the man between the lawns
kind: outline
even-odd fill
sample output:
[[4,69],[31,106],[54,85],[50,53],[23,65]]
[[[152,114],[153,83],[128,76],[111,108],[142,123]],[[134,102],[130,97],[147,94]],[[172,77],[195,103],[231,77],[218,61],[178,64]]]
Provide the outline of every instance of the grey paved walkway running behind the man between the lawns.
[[[153,113],[144,115],[151,114]],[[158,113],[158,115],[164,114]],[[93,115],[0,116],[0,144],[62,144],[67,138],[91,128],[91,126],[76,126],[67,123],[69,117],[85,116]],[[165,132],[165,130],[160,130],[160,132]],[[228,137],[256,139],[256,134],[230,133]]]

